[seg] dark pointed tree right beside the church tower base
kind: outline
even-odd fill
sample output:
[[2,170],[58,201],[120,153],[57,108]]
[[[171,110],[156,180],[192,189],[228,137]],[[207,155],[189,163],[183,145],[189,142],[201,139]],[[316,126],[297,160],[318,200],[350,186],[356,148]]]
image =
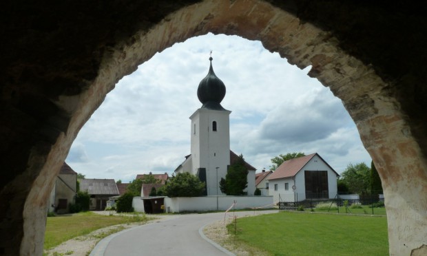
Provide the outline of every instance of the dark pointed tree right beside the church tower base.
[[227,170],[225,179],[220,180],[220,189],[226,195],[244,195],[244,189],[247,187],[248,170],[244,165],[243,155],[238,157]]

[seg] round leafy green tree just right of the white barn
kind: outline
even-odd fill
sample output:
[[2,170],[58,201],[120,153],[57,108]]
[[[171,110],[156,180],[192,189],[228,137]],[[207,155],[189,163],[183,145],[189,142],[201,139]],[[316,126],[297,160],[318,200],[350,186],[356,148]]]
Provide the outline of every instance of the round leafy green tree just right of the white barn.
[[364,162],[348,164],[341,177],[351,193],[360,194],[370,188],[370,172],[371,169]]

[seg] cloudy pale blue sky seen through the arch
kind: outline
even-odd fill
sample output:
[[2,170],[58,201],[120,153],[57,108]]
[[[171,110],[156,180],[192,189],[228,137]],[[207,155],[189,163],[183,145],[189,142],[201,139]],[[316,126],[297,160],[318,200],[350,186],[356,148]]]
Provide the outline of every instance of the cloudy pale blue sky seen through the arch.
[[67,156],[86,178],[130,182],[137,174],[173,173],[190,152],[189,116],[209,70],[225,83],[231,150],[258,171],[279,154],[319,153],[341,173],[371,164],[353,120],[329,88],[259,41],[207,34],[176,43],[125,76],[87,121]]

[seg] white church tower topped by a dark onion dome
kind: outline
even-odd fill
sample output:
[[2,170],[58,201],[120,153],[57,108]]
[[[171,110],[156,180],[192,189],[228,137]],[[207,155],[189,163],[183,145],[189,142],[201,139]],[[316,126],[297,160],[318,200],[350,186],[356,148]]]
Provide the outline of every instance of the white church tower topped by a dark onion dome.
[[206,183],[206,195],[222,195],[219,187],[230,164],[231,111],[221,106],[225,85],[213,72],[212,57],[209,72],[200,81],[197,96],[202,107],[190,116],[191,173]]

